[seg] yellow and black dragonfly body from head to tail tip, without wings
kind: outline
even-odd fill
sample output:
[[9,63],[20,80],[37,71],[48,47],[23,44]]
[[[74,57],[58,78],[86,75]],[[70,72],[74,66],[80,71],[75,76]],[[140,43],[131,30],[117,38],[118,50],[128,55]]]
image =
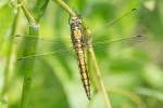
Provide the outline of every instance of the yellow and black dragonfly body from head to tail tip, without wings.
[[72,17],[70,21],[72,31],[72,43],[77,55],[78,68],[83,85],[85,87],[85,92],[87,94],[88,99],[90,99],[89,75],[85,57],[85,39],[80,28],[80,23],[82,21],[78,17]]

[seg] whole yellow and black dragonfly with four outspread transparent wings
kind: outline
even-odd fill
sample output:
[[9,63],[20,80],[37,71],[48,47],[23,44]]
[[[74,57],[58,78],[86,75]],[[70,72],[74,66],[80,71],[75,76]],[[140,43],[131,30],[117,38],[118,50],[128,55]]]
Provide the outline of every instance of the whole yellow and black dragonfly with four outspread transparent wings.
[[[27,40],[30,46],[37,44],[37,52],[34,55],[18,58],[14,65],[27,67],[26,63],[30,64],[30,62],[35,60],[34,67],[42,67],[41,64],[45,62],[52,64],[53,67],[57,67],[60,66],[62,62],[71,63],[74,58],[76,58],[83,86],[88,99],[90,100],[90,81],[86,51],[91,46],[97,55],[103,55],[105,53],[112,54],[147,40],[147,37],[137,35],[115,41],[108,41],[111,36],[118,33],[111,33],[114,28],[118,27],[122,23],[124,23],[125,26],[128,26],[133,22],[130,17],[137,14],[139,10],[140,9],[133,9],[128,11],[113,22],[100,27],[89,37],[86,37],[84,33],[82,17],[79,15],[71,16],[68,19],[71,38],[37,38],[34,36],[17,35],[15,36],[17,39],[15,42],[16,44],[21,44],[22,39]],[[88,43],[90,41],[92,42],[91,45]],[[24,45],[26,45],[26,43]],[[28,46],[25,48],[28,49]]]

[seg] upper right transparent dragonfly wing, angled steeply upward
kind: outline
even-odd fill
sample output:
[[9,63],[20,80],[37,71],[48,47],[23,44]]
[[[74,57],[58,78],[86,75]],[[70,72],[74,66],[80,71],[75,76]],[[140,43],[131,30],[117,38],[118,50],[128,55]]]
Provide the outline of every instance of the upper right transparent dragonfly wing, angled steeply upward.
[[136,17],[138,17],[140,13],[140,9],[133,9],[111,23],[105,24],[103,27],[100,27],[91,33],[92,42],[110,40],[113,36],[115,37],[117,33],[123,33],[123,31],[137,19]]

